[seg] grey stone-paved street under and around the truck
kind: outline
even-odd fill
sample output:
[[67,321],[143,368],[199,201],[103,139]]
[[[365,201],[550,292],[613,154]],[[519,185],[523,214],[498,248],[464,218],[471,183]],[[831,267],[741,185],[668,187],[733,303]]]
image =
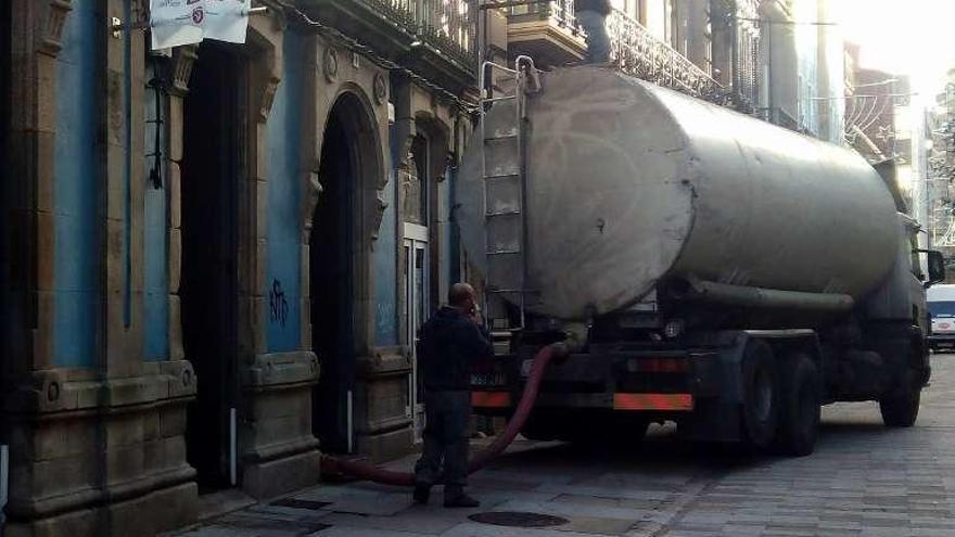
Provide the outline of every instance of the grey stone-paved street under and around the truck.
[[[651,430],[631,452],[518,443],[472,477],[471,489],[483,501],[478,510],[443,509],[440,494],[419,507],[400,488],[323,485],[177,535],[952,536],[953,360],[934,357],[933,382],[914,429],[884,429],[874,404],[831,406],[816,453],[806,458],[714,455],[676,442],[665,427]],[[469,519],[487,511],[551,514],[568,523],[530,529]]]

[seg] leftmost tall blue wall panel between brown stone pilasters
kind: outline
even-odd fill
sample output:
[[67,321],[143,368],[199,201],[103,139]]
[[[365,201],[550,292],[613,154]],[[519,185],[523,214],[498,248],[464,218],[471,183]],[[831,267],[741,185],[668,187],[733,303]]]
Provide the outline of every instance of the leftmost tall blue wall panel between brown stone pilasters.
[[53,362],[89,367],[96,358],[97,36],[96,0],[74,0],[56,59],[53,144]]

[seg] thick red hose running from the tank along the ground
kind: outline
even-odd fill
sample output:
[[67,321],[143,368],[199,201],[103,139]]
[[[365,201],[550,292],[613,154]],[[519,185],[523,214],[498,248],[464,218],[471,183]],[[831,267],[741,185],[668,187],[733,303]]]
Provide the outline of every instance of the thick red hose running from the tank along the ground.
[[[558,353],[558,345],[548,345],[542,348],[531,362],[531,371],[527,373],[527,383],[524,385],[524,393],[521,394],[521,400],[514,414],[508,420],[508,424],[504,432],[499,434],[491,446],[476,453],[468,462],[468,473],[474,473],[481,470],[487,462],[500,455],[511,442],[521,432],[524,422],[534,408],[534,400],[537,398],[537,391],[540,387],[540,381],[544,379],[544,370],[550,362],[550,359]],[[371,481],[381,483],[382,485],[413,486],[415,474],[410,472],[395,472],[384,470],[371,464],[358,461],[349,461],[336,459],[334,457],[324,456],[321,459],[322,473],[327,474],[347,474],[362,481]]]

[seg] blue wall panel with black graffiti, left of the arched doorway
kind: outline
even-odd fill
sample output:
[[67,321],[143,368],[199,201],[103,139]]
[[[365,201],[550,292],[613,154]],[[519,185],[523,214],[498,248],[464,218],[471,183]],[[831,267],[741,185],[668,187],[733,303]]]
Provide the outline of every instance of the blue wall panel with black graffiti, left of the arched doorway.
[[268,259],[266,337],[270,353],[297,350],[301,342],[303,40],[285,31],[283,75],[266,125],[268,138]]

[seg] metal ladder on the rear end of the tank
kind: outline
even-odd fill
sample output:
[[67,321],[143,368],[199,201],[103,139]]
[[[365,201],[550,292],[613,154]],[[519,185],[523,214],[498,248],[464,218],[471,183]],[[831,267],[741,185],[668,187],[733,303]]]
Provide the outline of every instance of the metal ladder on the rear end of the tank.
[[[504,94],[488,97],[494,74],[502,75],[508,88]],[[489,79],[488,79],[489,75]],[[480,129],[481,177],[484,199],[484,244],[486,256],[485,296],[487,315],[495,330],[524,328],[527,295],[527,158],[525,137],[529,127],[527,94],[540,89],[534,61],[521,55],[514,68],[484,62],[479,76],[481,89]],[[494,110],[493,114],[488,114]],[[494,325],[508,319],[505,302],[520,310],[519,325]]]

